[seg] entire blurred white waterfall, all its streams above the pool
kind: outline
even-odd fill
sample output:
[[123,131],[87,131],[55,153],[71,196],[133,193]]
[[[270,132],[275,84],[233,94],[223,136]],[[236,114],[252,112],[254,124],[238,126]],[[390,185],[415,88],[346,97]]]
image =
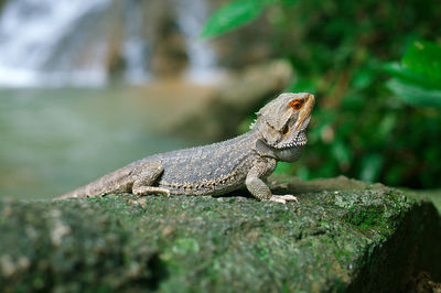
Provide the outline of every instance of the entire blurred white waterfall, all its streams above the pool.
[[[154,44],[144,32],[154,28],[154,20],[146,18],[146,3],[155,2],[7,0],[0,11],[0,86],[101,86],[114,69],[121,70],[131,84],[149,79]],[[216,55],[206,41],[197,39],[207,17],[207,1],[163,3],[175,12],[185,37],[186,77],[211,80]],[[115,36],[118,30],[121,33]],[[122,61],[121,67],[118,61]]]

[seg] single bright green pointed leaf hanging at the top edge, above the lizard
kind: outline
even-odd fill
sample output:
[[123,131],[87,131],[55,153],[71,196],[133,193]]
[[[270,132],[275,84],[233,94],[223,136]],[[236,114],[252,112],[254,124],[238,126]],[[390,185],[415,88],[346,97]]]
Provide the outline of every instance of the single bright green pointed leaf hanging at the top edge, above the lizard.
[[256,19],[269,3],[266,0],[238,0],[217,10],[209,17],[202,30],[202,37],[213,37]]

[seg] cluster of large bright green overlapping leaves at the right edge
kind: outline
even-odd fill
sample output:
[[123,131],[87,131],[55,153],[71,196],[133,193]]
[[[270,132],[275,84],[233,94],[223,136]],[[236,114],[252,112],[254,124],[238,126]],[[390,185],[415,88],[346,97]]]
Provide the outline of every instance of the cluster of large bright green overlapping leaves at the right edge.
[[441,107],[441,46],[415,42],[401,63],[387,63],[385,70],[395,78],[388,88],[415,106]]

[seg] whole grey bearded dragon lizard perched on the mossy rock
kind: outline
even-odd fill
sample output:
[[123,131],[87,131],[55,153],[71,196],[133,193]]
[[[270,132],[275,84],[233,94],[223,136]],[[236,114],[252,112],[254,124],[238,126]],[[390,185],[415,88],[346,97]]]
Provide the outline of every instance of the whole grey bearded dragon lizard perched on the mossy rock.
[[314,102],[309,93],[283,93],[257,112],[241,135],[147,156],[54,199],[117,193],[216,196],[245,186],[263,202],[298,200],[293,195],[273,195],[266,178],[277,162],[301,156]]

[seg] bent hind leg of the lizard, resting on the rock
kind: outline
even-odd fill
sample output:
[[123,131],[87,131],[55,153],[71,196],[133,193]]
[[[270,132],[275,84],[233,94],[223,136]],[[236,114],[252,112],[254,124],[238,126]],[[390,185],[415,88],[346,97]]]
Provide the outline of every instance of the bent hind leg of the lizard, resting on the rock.
[[146,162],[139,166],[139,173],[133,175],[131,192],[135,195],[165,194],[170,196],[170,191],[152,186],[158,177],[164,172],[160,162]]

